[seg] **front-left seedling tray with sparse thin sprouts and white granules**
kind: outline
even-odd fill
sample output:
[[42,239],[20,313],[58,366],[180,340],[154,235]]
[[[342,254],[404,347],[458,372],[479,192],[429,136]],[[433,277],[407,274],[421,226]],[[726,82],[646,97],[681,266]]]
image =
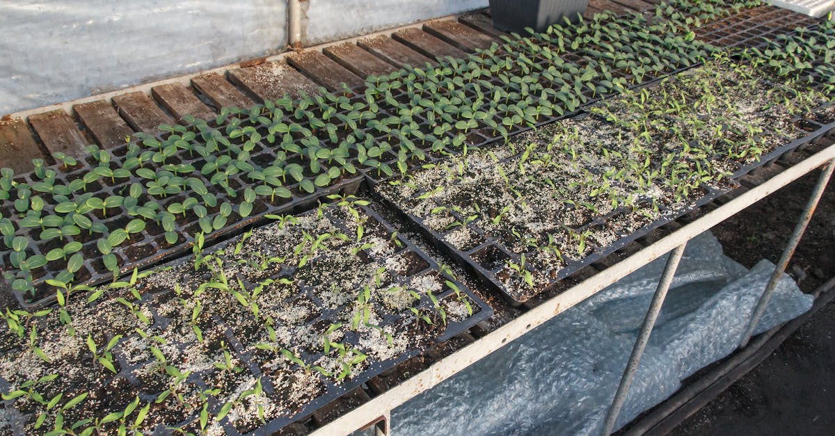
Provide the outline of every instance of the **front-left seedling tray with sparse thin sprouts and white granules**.
[[[49,362],[31,354],[28,330],[0,333],[8,368],[0,388],[40,379],[34,392],[63,393],[61,407],[89,392],[63,410],[65,425],[139,398],[146,434],[199,433],[204,408],[209,431],[272,434],[492,314],[367,200],[331,200],[148,274],[65,294],[64,305],[32,319],[41,335],[34,347]],[[75,337],[59,320],[63,310]],[[21,418],[13,434],[33,433],[39,413],[52,428],[58,410],[26,395],[3,406]]]

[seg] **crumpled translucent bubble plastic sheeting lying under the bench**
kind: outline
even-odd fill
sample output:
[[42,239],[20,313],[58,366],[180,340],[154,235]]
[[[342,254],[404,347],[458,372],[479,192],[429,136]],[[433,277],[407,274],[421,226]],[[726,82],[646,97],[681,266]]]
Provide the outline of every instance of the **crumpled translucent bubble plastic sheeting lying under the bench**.
[[[597,434],[665,257],[392,411],[392,433]],[[773,266],[747,271],[709,233],[688,245],[616,427],[736,348]],[[763,332],[812,307],[783,276]]]

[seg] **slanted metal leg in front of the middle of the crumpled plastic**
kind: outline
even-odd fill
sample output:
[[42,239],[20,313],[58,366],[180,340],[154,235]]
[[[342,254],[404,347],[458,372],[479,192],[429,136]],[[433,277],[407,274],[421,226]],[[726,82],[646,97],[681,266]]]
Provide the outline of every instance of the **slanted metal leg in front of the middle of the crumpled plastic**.
[[632,347],[632,354],[629,357],[629,362],[626,363],[624,375],[620,378],[620,386],[618,386],[618,391],[615,393],[615,399],[612,401],[609,413],[606,415],[603,430],[600,432],[604,436],[608,436],[612,433],[612,429],[615,428],[615,421],[618,415],[620,415],[620,408],[623,407],[626,401],[626,394],[629,393],[632,378],[635,377],[635,372],[638,370],[640,357],[644,354],[646,343],[650,341],[652,327],[655,327],[655,321],[661,312],[661,306],[664,305],[664,299],[667,297],[667,291],[670,290],[673,276],[676,276],[676,268],[678,268],[679,261],[681,261],[681,256],[684,254],[684,248],[686,246],[687,242],[681,244],[681,246],[676,246],[670,253],[670,257],[667,258],[664,272],[661,273],[658,287],[655,288],[655,295],[652,296],[652,302],[650,302],[650,307],[646,311],[644,324],[640,326],[638,338],[635,340],[635,347]]

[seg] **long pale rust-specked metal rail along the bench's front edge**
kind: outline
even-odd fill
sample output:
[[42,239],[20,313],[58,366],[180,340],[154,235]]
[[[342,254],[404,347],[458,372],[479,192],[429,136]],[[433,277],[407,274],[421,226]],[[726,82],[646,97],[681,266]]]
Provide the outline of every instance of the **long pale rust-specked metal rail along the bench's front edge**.
[[[711,210],[706,215],[696,219],[696,221],[682,226],[677,231],[661,238],[659,241],[655,241],[655,243],[625,258],[623,261],[606,268],[604,271],[600,271],[595,276],[591,276],[589,279],[578,283],[558,296],[530,309],[528,312],[524,312],[519,317],[504,324],[504,326],[498,327],[495,331],[490,332],[487,336],[481,337],[457,352],[453,352],[448,357],[444,357],[440,361],[435,362],[423,372],[418,373],[412,378],[408,378],[406,381],[372,398],[367,403],[343,414],[339,418],[331,421],[331,423],[317,428],[312,434],[325,436],[352,433],[357,428],[362,428],[367,423],[372,422],[375,418],[381,415],[387,415],[392,408],[406,403],[419,393],[423,393],[447,378],[453,377],[453,375],[461,372],[474,362],[478,362],[483,357],[487,357],[491,352],[504,347],[507,343],[514,341],[535,327],[539,327],[544,322],[548,322],[550,319],[558,316],[560,313],[569,309],[569,307],[573,307],[586,298],[593,296],[606,286],[610,286],[615,281],[629,275],[641,266],[645,266],[650,261],[664,256],[677,246],[685,244],[702,232],[710,230],[713,226],[725,221],[732,215],[736,215],[736,213],[746,207],[753,205],[768,195],[772,195],[775,191],[801,178],[803,175],[807,175],[813,170],[827,165],[832,160],[835,160],[835,144],[831,144],[824,150],[809,156],[796,165],[792,165],[792,167],[783,170],[761,185],[747,190],[735,199],[728,201],[715,210]],[[388,423],[388,426],[390,425]]]

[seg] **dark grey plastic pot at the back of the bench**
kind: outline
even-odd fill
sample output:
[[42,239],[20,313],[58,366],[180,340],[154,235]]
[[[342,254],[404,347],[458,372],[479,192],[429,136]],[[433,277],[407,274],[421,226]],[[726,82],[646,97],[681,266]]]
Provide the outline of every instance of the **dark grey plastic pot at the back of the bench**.
[[542,32],[563,17],[576,19],[589,0],[490,0],[493,27],[505,32],[524,33],[524,28]]

